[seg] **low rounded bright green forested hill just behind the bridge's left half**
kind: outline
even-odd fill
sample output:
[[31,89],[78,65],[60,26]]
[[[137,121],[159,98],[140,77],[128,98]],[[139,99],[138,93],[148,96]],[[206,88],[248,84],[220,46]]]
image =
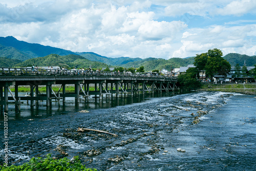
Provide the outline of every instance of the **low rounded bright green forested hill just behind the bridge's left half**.
[[27,66],[61,66],[65,68],[106,68],[108,65],[101,62],[90,61],[79,55],[60,56],[51,54],[44,57],[28,59],[24,62],[17,63],[17,67]]

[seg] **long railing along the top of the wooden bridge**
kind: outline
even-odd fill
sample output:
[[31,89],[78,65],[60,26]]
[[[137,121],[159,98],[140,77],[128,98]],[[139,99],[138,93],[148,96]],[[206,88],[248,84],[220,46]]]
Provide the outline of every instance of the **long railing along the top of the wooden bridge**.
[[0,68],[1,76],[33,76],[33,75],[52,75],[52,76],[95,76],[95,77],[151,77],[151,78],[173,78],[173,76],[162,76],[144,73],[131,72],[107,72],[107,71],[87,71],[87,70],[67,70],[67,69],[41,69],[41,68]]

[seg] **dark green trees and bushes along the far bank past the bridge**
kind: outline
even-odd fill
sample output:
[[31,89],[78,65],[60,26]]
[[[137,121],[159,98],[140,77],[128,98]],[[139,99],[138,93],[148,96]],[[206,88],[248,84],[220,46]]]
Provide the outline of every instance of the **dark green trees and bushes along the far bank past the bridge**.
[[[185,74],[180,74],[178,76],[178,85],[186,90],[200,88],[201,81],[199,73],[202,71],[205,71],[206,77],[210,79],[210,82],[213,81],[214,75],[219,74],[227,76],[231,70],[231,66],[222,56],[222,51],[217,48],[209,49],[206,53],[197,54],[194,61],[196,68],[189,68]],[[239,64],[237,64],[233,77],[239,78],[243,75],[244,77],[251,76],[256,79],[256,65],[254,66],[254,69],[248,71],[246,66],[241,68]]]

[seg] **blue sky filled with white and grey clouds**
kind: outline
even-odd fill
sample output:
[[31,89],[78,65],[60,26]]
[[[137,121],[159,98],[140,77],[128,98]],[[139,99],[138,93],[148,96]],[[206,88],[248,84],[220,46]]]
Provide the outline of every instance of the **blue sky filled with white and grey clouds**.
[[256,55],[255,0],[1,0],[0,36],[107,57]]

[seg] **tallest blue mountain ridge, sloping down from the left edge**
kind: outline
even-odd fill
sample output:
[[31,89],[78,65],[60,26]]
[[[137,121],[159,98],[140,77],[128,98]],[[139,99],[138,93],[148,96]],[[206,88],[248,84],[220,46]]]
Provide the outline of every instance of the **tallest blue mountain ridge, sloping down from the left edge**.
[[[58,54],[58,55],[76,54],[72,51],[68,51],[60,48],[53,48],[50,46],[44,46],[40,44],[30,44],[26,41],[17,40],[12,36],[0,37],[0,44],[6,47],[13,47],[23,53],[26,53],[30,56],[30,58],[47,56],[49,54]],[[26,59],[23,59],[23,60],[26,60]]]

